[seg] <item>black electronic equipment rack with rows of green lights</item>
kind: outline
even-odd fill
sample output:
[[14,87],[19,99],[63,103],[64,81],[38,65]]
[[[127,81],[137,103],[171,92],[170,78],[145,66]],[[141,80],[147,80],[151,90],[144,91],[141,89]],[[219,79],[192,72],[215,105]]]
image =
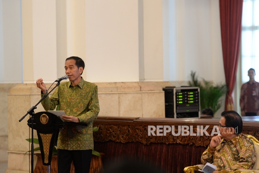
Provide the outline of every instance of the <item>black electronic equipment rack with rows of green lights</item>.
[[199,87],[165,87],[166,118],[200,118]]

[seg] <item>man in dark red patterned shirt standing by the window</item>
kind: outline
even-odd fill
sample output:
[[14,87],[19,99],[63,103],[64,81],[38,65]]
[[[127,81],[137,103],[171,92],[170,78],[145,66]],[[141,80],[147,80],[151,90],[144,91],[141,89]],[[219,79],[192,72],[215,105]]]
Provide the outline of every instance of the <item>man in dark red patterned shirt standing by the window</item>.
[[259,115],[259,83],[255,81],[255,69],[248,70],[249,81],[241,87],[240,107],[242,116]]

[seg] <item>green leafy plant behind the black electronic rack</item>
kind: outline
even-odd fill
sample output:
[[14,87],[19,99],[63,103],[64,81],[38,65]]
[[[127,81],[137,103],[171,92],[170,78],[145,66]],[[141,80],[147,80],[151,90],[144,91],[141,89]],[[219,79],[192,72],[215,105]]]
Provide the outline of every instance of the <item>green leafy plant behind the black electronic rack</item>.
[[191,81],[188,82],[189,86],[200,88],[201,110],[204,108],[210,108],[215,114],[222,106],[221,97],[227,93],[227,85],[213,85],[213,82],[206,81],[204,78],[202,78],[201,82],[198,80],[198,75],[196,75],[196,72],[193,71],[191,71],[190,77]]

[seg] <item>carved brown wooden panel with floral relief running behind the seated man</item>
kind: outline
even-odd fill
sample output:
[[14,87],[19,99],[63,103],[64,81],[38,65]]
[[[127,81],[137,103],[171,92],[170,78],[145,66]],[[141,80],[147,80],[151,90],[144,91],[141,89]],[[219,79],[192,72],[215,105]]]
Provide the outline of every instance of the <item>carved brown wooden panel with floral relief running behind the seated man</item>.
[[[106,142],[106,141],[114,141],[120,143],[128,143],[128,142],[140,142],[143,144],[150,144],[150,143],[180,143],[180,144],[194,144],[195,146],[208,146],[210,140],[213,136],[207,136],[203,134],[201,136],[191,136],[189,135],[182,135],[175,136],[170,133],[166,133],[164,136],[153,136],[152,134],[148,135],[148,126],[153,125],[157,127],[157,125],[168,125],[170,127],[174,126],[174,133],[178,133],[178,125],[187,125],[188,127],[193,126],[193,134],[197,134],[197,125],[203,125],[204,128],[206,125],[209,125],[208,129],[206,130],[209,135],[212,134],[213,126],[218,124],[218,119],[211,119],[206,120],[201,123],[200,119],[171,119],[167,122],[164,121],[165,119],[140,119],[140,118],[111,118],[111,117],[100,117],[99,119],[94,121],[94,126],[99,127],[99,130],[94,133],[94,141],[95,142]],[[155,123],[154,123],[155,122]],[[246,126],[243,127],[243,133],[250,134],[255,138],[259,139],[259,129],[250,130],[251,125],[257,126],[259,122],[255,124],[255,122],[251,122],[251,124],[247,121]],[[198,128],[198,131],[200,128]],[[190,130],[189,130],[190,131]],[[154,131],[155,134],[156,130]],[[163,132],[160,132],[163,133]]]

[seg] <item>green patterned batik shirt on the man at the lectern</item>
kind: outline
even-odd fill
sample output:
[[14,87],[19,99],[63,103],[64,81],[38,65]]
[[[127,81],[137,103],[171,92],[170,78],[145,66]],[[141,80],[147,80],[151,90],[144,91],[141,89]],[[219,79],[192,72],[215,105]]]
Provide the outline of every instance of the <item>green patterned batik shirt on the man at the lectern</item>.
[[[42,94],[43,96],[43,94]],[[46,97],[42,102],[43,108],[54,110],[59,105],[59,110],[64,110],[67,116],[75,116],[80,123],[66,124],[59,132],[57,148],[65,150],[94,149],[93,120],[100,111],[97,95],[97,86],[86,82],[81,77],[78,85],[72,86],[71,82],[62,82],[53,92],[51,97]]]

